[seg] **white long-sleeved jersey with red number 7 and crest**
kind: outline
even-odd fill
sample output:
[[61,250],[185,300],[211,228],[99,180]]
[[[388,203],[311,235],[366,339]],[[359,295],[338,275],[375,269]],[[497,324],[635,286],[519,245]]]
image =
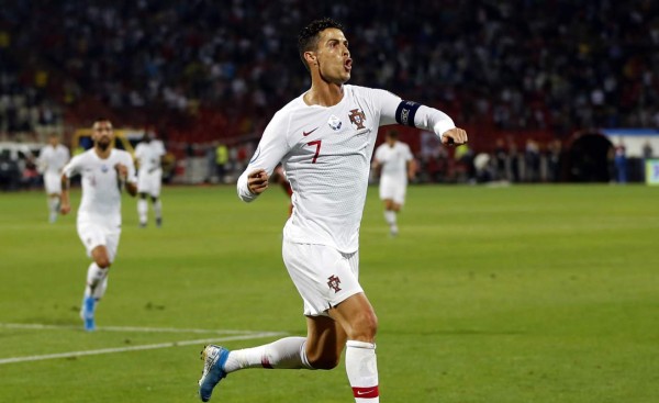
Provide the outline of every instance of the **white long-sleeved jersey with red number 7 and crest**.
[[[396,123],[401,99],[357,86],[344,85],[343,91],[342,101],[333,107],[308,105],[300,96],[277,112],[238,178],[237,190],[244,201],[256,199],[247,188],[247,173],[265,169],[270,175],[281,161],[293,189],[284,239],[351,253],[359,246],[378,127]],[[413,121],[437,135],[455,127],[445,113],[423,105]]]

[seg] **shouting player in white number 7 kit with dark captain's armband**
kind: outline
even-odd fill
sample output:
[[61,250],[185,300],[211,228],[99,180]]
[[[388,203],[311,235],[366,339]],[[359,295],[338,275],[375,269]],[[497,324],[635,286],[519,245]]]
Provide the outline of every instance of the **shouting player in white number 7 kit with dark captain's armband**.
[[237,192],[243,201],[257,199],[281,161],[293,188],[282,256],[303,300],[308,333],[232,351],[206,346],[199,380],[204,402],[234,371],[332,369],[345,348],[355,402],[378,403],[378,320],[358,281],[359,225],[378,127],[406,124],[433,131],[445,144],[467,142],[466,132],[436,109],[346,85],[353,59],[337,22],[312,22],[301,31],[298,47],[311,88],[275,114],[238,178]]

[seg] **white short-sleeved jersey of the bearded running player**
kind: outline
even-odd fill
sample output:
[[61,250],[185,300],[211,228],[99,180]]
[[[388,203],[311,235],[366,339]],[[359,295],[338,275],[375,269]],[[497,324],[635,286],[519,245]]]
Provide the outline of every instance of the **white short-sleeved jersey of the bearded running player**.
[[135,165],[131,154],[112,149],[110,156],[101,159],[93,148],[75,156],[64,175],[71,178],[82,176],[82,201],[78,208],[78,224],[81,222],[104,223],[108,226],[121,225],[121,189],[118,181],[116,164],[129,168],[129,182],[135,182]]

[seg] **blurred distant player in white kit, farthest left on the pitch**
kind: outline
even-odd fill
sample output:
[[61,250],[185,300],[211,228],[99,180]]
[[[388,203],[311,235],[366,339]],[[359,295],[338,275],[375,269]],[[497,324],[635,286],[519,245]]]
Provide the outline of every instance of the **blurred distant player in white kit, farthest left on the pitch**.
[[68,163],[68,148],[59,144],[59,137],[53,134],[48,145],[38,154],[38,168],[44,173],[44,188],[48,198],[48,221],[54,223],[59,214],[59,198],[62,194],[62,169]]

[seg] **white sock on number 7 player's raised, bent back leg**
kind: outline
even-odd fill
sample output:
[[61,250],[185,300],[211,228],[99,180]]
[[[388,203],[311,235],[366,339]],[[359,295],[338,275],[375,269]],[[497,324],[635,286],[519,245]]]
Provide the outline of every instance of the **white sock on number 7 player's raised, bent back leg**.
[[306,337],[284,337],[270,344],[233,350],[228,354],[226,373],[245,368],[313,369],[305,350]]

